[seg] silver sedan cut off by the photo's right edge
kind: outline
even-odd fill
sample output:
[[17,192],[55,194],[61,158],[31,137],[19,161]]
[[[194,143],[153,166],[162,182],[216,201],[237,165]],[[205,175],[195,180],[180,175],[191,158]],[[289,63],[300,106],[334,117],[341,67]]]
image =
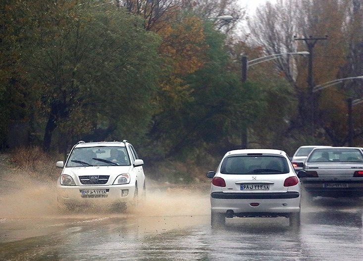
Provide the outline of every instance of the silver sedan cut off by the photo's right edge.
[[309,198],[362,197],[362,148],[315,148],[309,154],[304,171],[300,171],[299,176]]

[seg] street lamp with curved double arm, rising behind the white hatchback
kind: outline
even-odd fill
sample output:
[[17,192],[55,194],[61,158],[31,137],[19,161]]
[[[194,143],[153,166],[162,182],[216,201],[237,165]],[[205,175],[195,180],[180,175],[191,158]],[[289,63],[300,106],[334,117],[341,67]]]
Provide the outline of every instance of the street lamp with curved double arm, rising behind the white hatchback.
[[[300,52],[286,52],[286,53],[276,53],[271,55],[262,56],[253,60],[248,61],[246,55],[242,55],[242,83],[247,81],[247,72],[248,68],[250,66],[253,66],[255,64],[259,64],[261,62],[270,61],[273,59],[277,59],[279,56],[283,55],[309,55],[310,53],[307,51],[300,51]],[[247,135],[247,124],[245,126],[242,126],[242,132],[241,132],[241,139],[242,139],[242,148],[246,148],[248,146],[248,135]]]

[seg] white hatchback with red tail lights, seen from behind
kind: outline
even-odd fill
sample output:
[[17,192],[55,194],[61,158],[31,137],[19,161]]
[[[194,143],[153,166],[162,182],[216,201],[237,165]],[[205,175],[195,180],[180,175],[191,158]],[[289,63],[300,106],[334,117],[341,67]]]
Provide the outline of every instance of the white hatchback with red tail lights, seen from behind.
[[241,149],[228,151],[210,188],[212,227],[226,217],[288,217],[300,225],[300,180],[284,151]]

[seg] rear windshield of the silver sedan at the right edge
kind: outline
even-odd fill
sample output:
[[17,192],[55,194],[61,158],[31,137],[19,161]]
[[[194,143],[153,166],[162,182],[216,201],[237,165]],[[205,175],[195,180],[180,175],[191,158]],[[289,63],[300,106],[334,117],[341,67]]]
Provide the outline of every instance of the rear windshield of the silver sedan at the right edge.
[[359,149],[314,149],[307,162],[363,162]]

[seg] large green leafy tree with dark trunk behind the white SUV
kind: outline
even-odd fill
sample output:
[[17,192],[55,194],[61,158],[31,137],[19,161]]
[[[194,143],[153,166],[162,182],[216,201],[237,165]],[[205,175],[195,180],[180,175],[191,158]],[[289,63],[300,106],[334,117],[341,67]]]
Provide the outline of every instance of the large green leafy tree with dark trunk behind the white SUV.
[[104,138],[143,135],[153,113],[159,38],[106,1],[23,3],[34,23],[19,66],[48,118],[44,148],[57,127],[69,136],[98,128],[109,130]]

